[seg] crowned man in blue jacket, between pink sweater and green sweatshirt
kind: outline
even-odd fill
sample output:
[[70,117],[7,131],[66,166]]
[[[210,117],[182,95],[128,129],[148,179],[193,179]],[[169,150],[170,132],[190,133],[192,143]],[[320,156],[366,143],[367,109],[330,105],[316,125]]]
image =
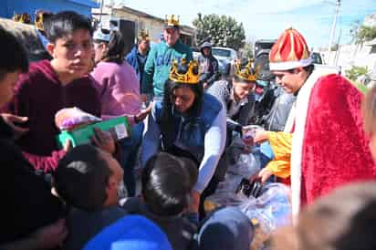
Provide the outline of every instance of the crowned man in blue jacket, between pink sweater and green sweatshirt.
[[148,32],[141,30],[137,39],[137,45],[132,48],[131,52],[125,57],[127,62],[136,71],[137,77],[142,82],[142,75],[145,68],[146,59],[148,58],[149,50],[151,48],[150,37]]

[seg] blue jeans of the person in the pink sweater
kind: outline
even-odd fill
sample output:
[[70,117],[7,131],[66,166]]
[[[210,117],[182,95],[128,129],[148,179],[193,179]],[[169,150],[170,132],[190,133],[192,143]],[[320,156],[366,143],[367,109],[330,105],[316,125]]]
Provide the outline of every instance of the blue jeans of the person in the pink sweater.
[[131,137],[120,140],[121,146],[121,167],[124,170],[124,184],[128,191],[128,196],[136,194],[136,180],[134,176],[134,165],[142,141],[143,122],[133,125]]

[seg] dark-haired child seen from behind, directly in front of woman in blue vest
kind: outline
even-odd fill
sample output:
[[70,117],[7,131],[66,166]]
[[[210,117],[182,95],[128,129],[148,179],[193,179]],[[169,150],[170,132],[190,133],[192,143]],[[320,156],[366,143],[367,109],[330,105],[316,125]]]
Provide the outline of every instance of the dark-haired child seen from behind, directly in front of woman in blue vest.
[[172,249],[190,249],[196,228],[182,214],[189,206],[197,174],[193,161],[160,152],[142,171],[142,198],[130,198],[123,207],[158,224]]

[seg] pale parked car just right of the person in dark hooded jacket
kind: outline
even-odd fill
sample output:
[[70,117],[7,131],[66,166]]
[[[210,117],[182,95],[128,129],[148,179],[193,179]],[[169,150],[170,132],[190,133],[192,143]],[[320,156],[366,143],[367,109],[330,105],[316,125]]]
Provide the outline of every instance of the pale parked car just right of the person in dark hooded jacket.
[[219,72],[231,75],[235,61],[238,59],[235,49],[231,47],[212,47],[212,54],[218,60]]

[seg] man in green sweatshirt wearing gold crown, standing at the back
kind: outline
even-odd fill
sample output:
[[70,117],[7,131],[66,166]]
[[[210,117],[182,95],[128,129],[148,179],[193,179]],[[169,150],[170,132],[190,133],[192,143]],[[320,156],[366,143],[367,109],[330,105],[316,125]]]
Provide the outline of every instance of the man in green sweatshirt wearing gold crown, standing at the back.
[[163,36],[164,41],[151,48],[146,60],[141,84],[142,94],[162,97],[172,61],[180,61],[182,58],[187,62],[193,60],[192,49],[179,39],[179,18],[175,18],[174,15],[166,18]]

